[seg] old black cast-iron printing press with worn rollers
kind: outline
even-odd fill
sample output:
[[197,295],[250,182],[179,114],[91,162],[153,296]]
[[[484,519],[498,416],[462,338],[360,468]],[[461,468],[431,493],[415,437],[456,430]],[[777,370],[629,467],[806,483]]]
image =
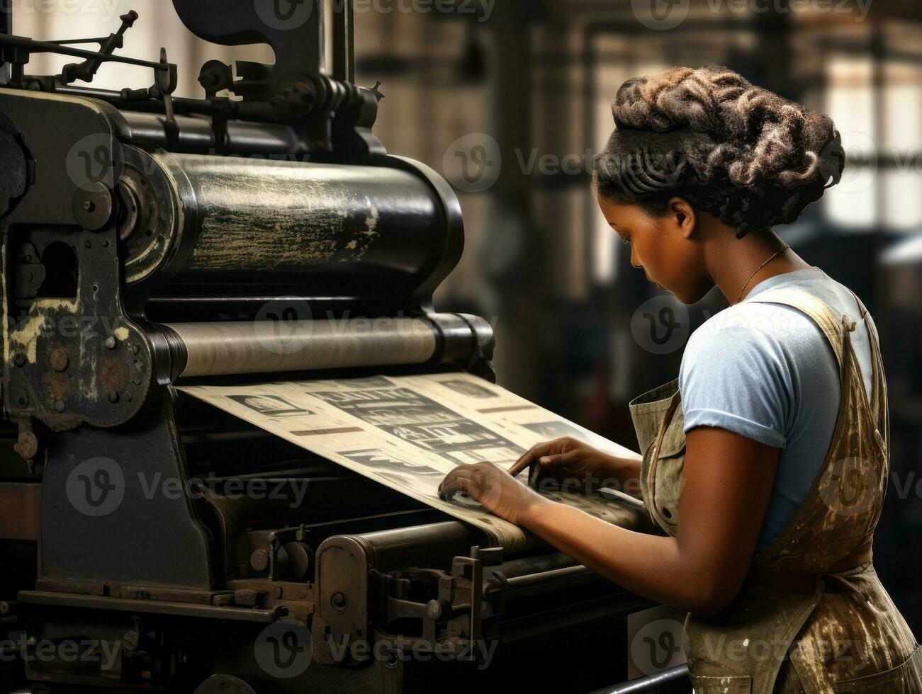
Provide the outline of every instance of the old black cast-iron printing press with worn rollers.
[[[143,25],[134,12],[85,41],[31,41],[5,17],[2,690],[618,684],[627,619],[648,601],[535,539],[490,547],[176,390],[493,380],[490,324],[432,304],[462,253],[460,206],[372,135],[383,95],[355,84],[349,3],[309,2],[296,29],[261,21],[271,4],[174,0],[196,36],[276,54],[238,62],[236,77],[207,62],[204,99],[173,96],[166,51],[118,53]],[[74,62],[30,76],[35,53]],[[88,86],[112,64],[149,68],[151,87]],[[77,469],[99,459],[124,475],[112,512],[105,466]],[[253,480],[275,493],[235,492]],[[54,647],[65,642],[75,650]]]

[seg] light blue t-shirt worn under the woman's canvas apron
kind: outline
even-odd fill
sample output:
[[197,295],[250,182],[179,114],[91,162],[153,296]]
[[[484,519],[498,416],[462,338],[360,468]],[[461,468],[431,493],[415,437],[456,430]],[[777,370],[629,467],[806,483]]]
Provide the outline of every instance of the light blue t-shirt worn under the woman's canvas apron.
[[860,309],[852,293],[818,267],[766,279],[691,335],[679,375],[685,431],[719,427],[781,449],[757,551],[807,497],[829,451],[841,398],[838,364],[819,326],[796,309],[756,302],[773,288],[802,289],[857,321],[852,345],[873,396]]

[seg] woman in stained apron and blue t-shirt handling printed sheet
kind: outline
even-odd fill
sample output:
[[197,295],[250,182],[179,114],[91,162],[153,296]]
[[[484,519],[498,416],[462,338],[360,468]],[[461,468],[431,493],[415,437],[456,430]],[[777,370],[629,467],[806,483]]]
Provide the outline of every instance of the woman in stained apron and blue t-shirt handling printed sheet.
[[[643,456],[551,441],[509,472],[457,468],[443,497],[465,491],[688,610],[698,694],[922,691],[922,650],[871,563],[889,433],[876,329],[772,231],[839,181],[838,132],[719,66],[629,80],[612,111],[595,188],[632,265],[685,303],[716,285],[731,307],[691,336],[677,381],[632,403]],[[664,535],[547,500],[516,478],[526,468],[639,480]]]

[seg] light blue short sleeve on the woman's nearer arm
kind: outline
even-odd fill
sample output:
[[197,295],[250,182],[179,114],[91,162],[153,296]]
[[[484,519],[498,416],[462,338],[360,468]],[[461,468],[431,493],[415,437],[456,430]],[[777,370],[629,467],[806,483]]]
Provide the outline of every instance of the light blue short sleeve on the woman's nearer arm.
[[679,375],[686,432],[718,427],[786,446],[793,381],[784,349],[764,327],[763,313],[773,310],[741,304],[691,335]]

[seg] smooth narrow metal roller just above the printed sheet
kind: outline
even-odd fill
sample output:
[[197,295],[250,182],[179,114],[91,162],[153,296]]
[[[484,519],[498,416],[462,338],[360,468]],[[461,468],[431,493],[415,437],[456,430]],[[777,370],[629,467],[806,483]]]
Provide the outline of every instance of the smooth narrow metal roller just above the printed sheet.
[[432,324],[416,318],[168,323],[161,328],[174,377],[424,364],[435,357],[439,342]]

